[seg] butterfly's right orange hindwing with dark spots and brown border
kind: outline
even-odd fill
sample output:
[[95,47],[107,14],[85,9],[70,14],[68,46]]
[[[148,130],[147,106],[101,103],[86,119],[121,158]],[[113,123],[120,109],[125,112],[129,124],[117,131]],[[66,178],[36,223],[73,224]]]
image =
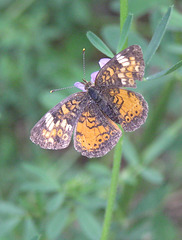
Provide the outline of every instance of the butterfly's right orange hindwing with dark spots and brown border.
[[101,95],[113,109],[110,115],[105,114],[121,124],[124,131],[134,131],[146,121],[148,104],[141,94],[110,87],[103,89]]

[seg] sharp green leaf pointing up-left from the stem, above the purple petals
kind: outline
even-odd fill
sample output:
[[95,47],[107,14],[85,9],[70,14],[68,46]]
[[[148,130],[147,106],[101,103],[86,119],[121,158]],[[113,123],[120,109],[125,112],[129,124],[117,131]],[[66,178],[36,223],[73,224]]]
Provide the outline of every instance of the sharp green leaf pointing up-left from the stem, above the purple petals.
[[95,35],[93,32],[88,31],[87,38],[92,43],[92,45],[96,47],[100,52],[102,52],[103,54],[105,54],[110,58],[114,57],[114,54],[106,46],[106,44],[99,37],[97,37],[97,35]]

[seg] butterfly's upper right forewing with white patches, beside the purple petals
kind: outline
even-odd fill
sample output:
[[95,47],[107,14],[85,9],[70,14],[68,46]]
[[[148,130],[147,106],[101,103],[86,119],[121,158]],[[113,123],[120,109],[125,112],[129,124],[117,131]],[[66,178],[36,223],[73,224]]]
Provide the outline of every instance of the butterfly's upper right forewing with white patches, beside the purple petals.
[[142,80],[144,69],[141,47],[132,45],[116,54],[100,69],[95,79],[95,85],[136,88],[135,80]]

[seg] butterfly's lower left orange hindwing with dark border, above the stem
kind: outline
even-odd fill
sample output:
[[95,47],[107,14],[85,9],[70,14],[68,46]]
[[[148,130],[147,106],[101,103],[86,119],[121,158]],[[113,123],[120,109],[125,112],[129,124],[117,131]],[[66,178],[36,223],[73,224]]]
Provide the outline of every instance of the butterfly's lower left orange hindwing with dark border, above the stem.
[[78,119],[74,146],[86,157],[102,157],[116,145],[121,134],[119,127],[91,100]]

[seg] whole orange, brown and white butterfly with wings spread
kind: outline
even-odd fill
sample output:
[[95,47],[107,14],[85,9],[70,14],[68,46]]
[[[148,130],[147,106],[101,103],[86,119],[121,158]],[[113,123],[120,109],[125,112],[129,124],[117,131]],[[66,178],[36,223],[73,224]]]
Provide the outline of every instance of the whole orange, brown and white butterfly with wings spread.
[[[105,61],[105,62],[104,62]],[[74,147],[88,158],[102,157],[118,142],[122,131],[138,129],[147,118],[143,96],[123,87],[136,88],[144,76],[141,47],[132,45],[103,60],[91,82],[76,83],[74,93],[48,111],[32,128],[30,139],[45,149],[68,147],[74,131]]]

